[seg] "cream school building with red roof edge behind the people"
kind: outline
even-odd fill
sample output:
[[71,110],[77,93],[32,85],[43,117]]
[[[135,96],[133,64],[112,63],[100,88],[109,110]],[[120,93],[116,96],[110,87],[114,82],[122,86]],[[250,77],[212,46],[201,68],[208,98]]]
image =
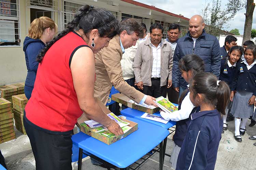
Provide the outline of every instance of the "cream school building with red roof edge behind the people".
[[170,23],[181,25],[182,36],[188,31],[189,18],[132,0],[0,0],[0,85],[25,81],[23,41],[35,18],[50,17],[61,31],[84,4],[106,8],[119,20],[136,18],[148,31],[152,23],[159,22],[165,28],[163,38]]

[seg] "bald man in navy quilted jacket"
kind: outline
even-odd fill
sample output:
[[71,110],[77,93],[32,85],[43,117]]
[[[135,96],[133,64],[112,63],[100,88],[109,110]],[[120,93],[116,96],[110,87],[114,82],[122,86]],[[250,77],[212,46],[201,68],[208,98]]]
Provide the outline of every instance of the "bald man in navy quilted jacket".
[[173,88],[179,92],[179,97],[188,85],[179,70],[179,61],[183,56],[198,55],[204,62],[204,71],[211,72],[217,77],[221,69],[219,41],[215,36],[205,32],[202,16],[192,16],[188,24],[189,31],[178,40],[173,56],[172,83]]

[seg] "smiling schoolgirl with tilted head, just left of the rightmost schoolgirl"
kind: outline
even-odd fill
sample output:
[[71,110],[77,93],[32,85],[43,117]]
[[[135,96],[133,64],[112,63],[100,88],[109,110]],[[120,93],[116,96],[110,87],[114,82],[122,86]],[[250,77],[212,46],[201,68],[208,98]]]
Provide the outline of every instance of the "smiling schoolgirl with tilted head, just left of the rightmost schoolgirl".
[[[225,81],[228,83],[229,88],[231,88],[232,79],[234,72],[236,70],[237,61],[240,60],[241,55],[243,54],[243,47],[241,46],[232,46],[226,57],[221,60],[221,72],[219,75],[219,80]],[[228,106],[225,109],[225,113],[228,113],[228,110],[231,109],[232,102],[229,102]],[[228,129],[227,124],[227,115],[223,115],[223,131]]]

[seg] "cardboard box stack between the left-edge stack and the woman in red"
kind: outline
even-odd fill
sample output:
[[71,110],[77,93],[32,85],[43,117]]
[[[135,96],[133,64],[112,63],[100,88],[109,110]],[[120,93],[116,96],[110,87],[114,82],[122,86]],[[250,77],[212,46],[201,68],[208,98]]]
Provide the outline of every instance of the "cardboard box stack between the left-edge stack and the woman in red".
[[16,129],[21,133],[23,133],[24,135],[26,135],[27,133],[24,128],[23,117],[24,117],[24,109],[28,102],[28,99],[23,94],[23,95],[12,96],[12,101],[13,101],[13,114],[14,114]]

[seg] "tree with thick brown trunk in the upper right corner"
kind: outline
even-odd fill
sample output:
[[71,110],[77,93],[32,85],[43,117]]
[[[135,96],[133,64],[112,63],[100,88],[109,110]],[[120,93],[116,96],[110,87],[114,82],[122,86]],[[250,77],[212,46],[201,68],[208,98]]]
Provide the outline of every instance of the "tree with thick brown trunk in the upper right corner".
[[238,11],[246,8],[245,22],[244,22],[244,41],[251,39],[252,34],[252,24],[253,24],[253,11],[255,8],[255,3],[253,0],[229,0],[227,4],[227,11],[236,15]]

